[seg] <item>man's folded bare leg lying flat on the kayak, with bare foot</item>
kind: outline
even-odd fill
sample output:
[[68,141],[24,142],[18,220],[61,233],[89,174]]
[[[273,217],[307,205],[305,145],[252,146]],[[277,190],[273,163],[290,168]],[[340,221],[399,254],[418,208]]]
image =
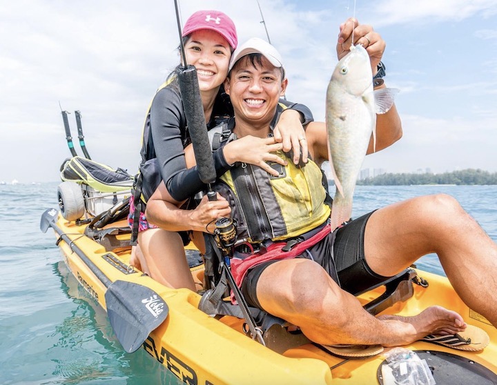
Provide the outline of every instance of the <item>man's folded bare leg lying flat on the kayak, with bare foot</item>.
[[414,317],[373,317],[309,259],[269,265],[257,282],[257,299],[264,310],[299,326],[319,344],[400,346],[431,333],[465,329],[460,315],[440,306]]

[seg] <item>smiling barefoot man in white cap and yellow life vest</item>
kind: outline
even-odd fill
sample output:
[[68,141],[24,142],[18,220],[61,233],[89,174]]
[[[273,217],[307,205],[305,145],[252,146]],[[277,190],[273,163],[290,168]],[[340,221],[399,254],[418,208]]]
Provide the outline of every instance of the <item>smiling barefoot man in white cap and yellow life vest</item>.
[[[370,46],[377,47],[368,51],[370,57],[381,58],[380,35],[364,26],[362,31],[368,34]],[[210,233],[213,219],[235,219],[238,242],[231,271],[251,306],[299,326],[309,339],[323,345],[399,346],[432,333],[460,333],[466,328],[462,317],[440,306],[413,317],[373,317],[353,295],[438,250],[461,297],[497,325],[492,299],[497,284],[483,288],[471,282],[471,290],[466,290],[469,284],[460,279],[467,277],[463,267],[467,261],[497,273],[497,246],[455,199],[446,195],[410,199],[354,219],[331,233],[330,208],[318,167],[327,158],[326,127],[318,122],[307,126],[302,139],[314,161],[295,166],[271,136],[282,111],[278,99],[288,83],[277,50],[251,39],[233,52],[229,68],[224,88],[235,117],[223,131],[227,128],[236,137],[228,139],[223,150],[229,164],[240,164],[215,184],[222,199],[199,205],[193,215],[204,213]],[[395,108],[378,117],[377,137],[393,143],[401,129],[398,122]],[[147,208],[150,221],[159,226],[164,223],[162,200],[159,193]]]

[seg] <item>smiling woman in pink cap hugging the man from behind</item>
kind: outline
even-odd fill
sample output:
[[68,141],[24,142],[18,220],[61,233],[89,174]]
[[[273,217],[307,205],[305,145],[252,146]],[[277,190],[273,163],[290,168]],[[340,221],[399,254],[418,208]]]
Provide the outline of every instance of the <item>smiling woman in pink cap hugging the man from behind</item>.
[[[233,21],[223,12],[200,10],[188,18],[183,29],[183,46],[188,65],[197,69],[200,95],[204,106],[207,128],[233,116],[233,107],[224,93],[222,83],[228,75],[231,53],[237,47],[237,33]],[[181,49],[181,46],[180,48]],[[137,194],[130,202],[130,226],[137,233],[140,257],[132,263],[142,265],[151,277],[175,288],[191,288],[195,284],[184,257],[184,244],[190,235],[166,231],[148,224],[144,216],[146,201],[160,183],[164,183],[170,196],[178,206],[191,208],[190,198],[203,186],[197,168],[186,168],[184,148],[191,143],[186,118],[177,84],[177,70],[170,73],[166,82],[157,90],[151,103],[144,126],[142,162],[137,179]],[[289,106],[282,114],[275,129],[275,137],[282,139],[284,150],[294,150],[295,161],[299,159],[298,138],[303,126],[312,120],[311,112],[302,105],[283,101]],[[302,148],[304,161],[307,149]],[[213,153],[217,175],[222,175],[231,165],[226,163],[222,150]],[[205,199],[205,198],[204,198]],[[135,203],[137,203],[135,207]],[[213,202],[213,209],[215,209]],[[189,228],[196,228],[195,217]],[[182,257],[179,257],[182,256]]]

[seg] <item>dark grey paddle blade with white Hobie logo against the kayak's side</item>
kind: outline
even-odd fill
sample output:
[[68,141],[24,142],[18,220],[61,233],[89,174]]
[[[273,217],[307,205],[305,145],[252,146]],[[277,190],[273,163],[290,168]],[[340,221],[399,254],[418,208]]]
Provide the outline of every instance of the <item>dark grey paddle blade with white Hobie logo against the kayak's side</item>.
[[113,282],[105,299],[110,325],[128,353],[137,351],[169,312],[164,299],[154,290],[133,282]]

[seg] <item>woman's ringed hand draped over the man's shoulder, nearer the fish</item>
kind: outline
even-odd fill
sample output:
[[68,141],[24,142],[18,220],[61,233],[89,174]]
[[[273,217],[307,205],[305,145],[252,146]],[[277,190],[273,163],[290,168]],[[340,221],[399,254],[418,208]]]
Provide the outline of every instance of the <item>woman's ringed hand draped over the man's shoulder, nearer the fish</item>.
[[[293,150],[293,163],[298,164],[300,153],[302,152],[302,161],[307,163],[309,151],[305,141],[305,131],[300,121],[300,112],[286,108],[278,120],[273,135],[277,142],[283,144],[283,151]],[[302,140],[303,139],[303,140]]]

